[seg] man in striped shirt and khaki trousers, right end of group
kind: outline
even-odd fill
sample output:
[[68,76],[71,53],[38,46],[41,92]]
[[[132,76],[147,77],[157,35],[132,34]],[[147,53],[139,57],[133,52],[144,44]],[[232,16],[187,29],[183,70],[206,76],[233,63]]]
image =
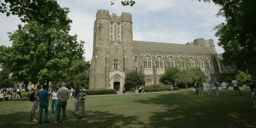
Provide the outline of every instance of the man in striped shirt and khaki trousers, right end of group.
[[84,102],[85,102],[85,95],[86,95],[86,90],[84,89],[84,85],[80,85],[81,88],[81,93],[79,96],[79,118],[84,117]]

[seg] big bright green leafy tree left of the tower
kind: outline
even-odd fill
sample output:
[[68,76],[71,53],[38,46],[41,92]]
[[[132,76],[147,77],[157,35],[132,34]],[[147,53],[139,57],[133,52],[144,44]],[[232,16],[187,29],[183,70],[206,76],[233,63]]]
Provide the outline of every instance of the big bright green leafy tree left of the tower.
[[[69,31],[66,26],[65,30]],[[61,27],[44,27],[29,22],[9,33],[11,47],[0,46],[0,63],[6,66],[18,82],[44,84],[63,81],[71,73],[88,69],[84,61],[83,44],[77,35],[68,35]]]

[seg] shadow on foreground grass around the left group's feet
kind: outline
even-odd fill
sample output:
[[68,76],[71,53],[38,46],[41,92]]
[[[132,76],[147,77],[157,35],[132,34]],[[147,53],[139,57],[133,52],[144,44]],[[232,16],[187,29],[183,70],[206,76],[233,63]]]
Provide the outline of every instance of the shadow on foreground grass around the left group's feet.
[[[48,124],[38,124],[38,122],[29,121],[30,113],[28,112],[16,112],[16,113],[5,113],[1,114],[0,119],[0,127],[26,127],[26,128],[34,128],[34,127],[63,127],[63,128],[75,128],[75,127],[87,127],[87,128],[102,128],[102,127],[129,127],[130,124],[136,125],[143,124],[138,121],[138,117],[136,116],[125,116],[118,115],[109,112],[102,111],[86,111],[86,117],[77,118],[78,116],[73,114],[72,110],[67,110],[67,121],[62,123],[62,112],[60,116],[60,121],[58,124],[55,124],[55,115],[51,116],[51,111],[49,110],[49,118],[50,123]],[[38,119],[38,110],[36,110],[35,116]],[[43,120],[44,120],[44,112],[43,112]]]

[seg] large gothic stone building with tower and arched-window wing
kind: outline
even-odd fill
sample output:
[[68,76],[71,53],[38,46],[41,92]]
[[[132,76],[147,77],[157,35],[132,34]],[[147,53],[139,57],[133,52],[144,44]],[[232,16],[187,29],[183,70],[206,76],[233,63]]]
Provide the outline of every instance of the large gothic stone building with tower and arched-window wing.
[[144,73],[146,85],[159,84],[170,66],[181,69],[199,66],[209,81],[220,74],[212,39],[197,38],[187,44],[135,41],[132,38],[132,15],[117,16],[98,10],[94,22],[93,57],[90,66],[90,89],[122,88],[126,74]]

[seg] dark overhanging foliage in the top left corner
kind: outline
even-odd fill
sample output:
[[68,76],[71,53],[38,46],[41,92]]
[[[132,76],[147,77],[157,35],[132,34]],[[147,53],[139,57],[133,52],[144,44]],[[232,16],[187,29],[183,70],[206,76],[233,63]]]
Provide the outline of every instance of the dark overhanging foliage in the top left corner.
[[37,21],[38,24],[64,29],[72,23],[67,18],[68,8],[61,8],[56,0],[0,0],[0,12],[18,15],[22,22]]

